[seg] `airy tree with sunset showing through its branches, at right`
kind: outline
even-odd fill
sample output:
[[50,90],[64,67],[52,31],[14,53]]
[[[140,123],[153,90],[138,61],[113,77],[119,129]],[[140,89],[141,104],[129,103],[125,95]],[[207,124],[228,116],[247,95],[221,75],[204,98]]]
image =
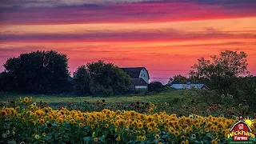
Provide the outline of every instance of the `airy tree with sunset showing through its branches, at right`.
[[212,60],[198,59],[198,63],[191,66],[190,78],[204,81],[220,94],[229,94],[234,78],[249,74],[247,70],[246,53],[237,51],[222,51],[218,56],[211,56]]

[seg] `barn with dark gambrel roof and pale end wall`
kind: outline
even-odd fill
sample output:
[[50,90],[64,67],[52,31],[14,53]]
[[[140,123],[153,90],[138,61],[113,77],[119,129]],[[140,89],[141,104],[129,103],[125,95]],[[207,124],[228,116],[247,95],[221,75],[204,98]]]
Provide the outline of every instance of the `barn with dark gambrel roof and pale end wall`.
[[126,74],[130,75],[132,90],[146,90],[150,81],[150,74],[145,67],[126,67],[121,68]]

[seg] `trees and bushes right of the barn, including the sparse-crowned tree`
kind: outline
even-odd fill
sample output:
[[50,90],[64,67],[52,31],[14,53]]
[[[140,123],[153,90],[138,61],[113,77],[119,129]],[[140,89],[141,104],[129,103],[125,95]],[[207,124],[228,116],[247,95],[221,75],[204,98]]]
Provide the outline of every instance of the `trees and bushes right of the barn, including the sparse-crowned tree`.
[[[191,66],[190,77],[181,74],[170,78],[169,85],[178,83],[205,84],[210,90],[199,90],[206,102],[221,102],[221,96],[232,95],[238,104],[246,104],[256,110],[256,77],[247,70],[247,54],[226,50],[211,59],[200,58]],[[240,103],[239,103],[240,102]]]

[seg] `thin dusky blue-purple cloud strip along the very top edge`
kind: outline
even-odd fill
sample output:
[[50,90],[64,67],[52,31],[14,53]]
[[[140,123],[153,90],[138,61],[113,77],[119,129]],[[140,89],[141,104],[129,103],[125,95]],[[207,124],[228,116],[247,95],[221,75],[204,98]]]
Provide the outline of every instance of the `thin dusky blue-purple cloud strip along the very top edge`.
[[198,2],[215,5],[229,5],[230,3],[254,3],[254,0],[2,0],[0,7],[58,7],[58,6],[94,6],[122,3],[156,3],[156,2]]

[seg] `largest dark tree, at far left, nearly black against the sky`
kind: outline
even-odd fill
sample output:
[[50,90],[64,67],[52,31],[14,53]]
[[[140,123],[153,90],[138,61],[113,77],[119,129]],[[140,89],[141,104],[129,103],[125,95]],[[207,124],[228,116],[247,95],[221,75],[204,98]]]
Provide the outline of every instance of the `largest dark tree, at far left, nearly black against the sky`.
[[20,54],[3,66],[10,91],[52,94],[65,92],[69,86],[68,58],[54,50]]

